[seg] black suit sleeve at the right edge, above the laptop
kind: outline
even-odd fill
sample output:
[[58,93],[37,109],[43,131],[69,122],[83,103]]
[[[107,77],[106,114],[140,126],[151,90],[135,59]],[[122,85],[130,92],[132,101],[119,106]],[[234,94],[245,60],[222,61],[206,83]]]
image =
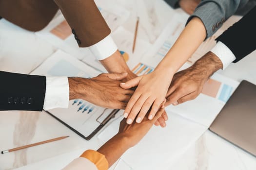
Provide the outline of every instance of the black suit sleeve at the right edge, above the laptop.
[[216,39],[236,56],[234,63],[256,50],[256,7]]

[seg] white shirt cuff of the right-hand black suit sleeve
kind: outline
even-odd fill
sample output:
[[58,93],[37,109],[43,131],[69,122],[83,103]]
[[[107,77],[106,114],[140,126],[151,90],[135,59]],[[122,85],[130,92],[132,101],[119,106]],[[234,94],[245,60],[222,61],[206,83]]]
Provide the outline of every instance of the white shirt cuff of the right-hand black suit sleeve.
[[211,50],[222,62],[223,68],[226,69],[230,63],[236,60],[236,56],[233,52],[222,42],[218,41],[214,48]]

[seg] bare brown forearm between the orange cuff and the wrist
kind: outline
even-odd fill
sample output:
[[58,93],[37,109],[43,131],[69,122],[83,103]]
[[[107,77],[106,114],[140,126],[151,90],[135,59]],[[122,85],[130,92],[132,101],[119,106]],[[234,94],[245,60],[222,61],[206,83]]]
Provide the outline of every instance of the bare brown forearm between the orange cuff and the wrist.
[[105,155],[109,167],[111,167],[121,157],[121,155],[130,148],[127,141],[126,137],[118,134],[98,149],[99,153]]

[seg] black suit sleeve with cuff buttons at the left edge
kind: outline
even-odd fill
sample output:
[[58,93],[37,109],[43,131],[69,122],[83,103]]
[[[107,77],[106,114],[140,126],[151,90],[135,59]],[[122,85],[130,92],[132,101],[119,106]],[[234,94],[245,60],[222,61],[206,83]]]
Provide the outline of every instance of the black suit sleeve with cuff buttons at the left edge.
[[46,77],[0,71],[0,110],[42,111]]

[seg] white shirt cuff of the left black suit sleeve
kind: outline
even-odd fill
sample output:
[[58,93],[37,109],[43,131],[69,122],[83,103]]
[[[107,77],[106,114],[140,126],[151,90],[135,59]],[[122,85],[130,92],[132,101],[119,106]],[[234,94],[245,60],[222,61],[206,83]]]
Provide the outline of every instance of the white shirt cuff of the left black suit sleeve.
[[44,110],[68,108],[69,85],[67,77],[46,77]]

